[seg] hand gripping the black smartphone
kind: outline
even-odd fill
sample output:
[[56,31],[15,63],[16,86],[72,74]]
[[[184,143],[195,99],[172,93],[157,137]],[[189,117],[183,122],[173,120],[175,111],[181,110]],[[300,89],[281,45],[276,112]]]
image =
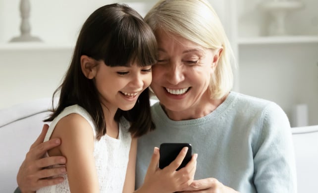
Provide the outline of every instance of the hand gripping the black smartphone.
[[192,155],[189,163],[176,171],[181,165],[188,147],[184,147],[176,159],[163,169],[159,169],[159,148],[155,147],[143,186],[136,192],[173,193],[184,190],[193,182],[197,166],[197,154]]

